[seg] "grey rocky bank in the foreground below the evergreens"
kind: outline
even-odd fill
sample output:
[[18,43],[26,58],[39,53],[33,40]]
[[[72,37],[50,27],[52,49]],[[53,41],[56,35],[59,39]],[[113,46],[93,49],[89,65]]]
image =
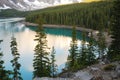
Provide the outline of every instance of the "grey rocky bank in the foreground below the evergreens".
[[[105,66],[115,65],[111,70],[104,70]],[[95,65],[88,66],[77,72],[66,72],[57,78],[35,78],[34,80],[120,80],[120,62],[104,63],[100,62]]]

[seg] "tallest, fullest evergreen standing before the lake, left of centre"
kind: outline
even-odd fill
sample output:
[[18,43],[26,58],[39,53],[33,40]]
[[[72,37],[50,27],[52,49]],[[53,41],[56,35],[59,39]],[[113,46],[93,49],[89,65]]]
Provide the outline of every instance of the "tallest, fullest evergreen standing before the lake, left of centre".
[[50,76],[50,61],[48,58],[48,46],[46,40],[46,34],[42,27],[42,22],[37,22],[39,24],[36,39],[37,45],[35,47],[34,53],[34,62],[33,62],[33,76],[35,77],[46,77]]

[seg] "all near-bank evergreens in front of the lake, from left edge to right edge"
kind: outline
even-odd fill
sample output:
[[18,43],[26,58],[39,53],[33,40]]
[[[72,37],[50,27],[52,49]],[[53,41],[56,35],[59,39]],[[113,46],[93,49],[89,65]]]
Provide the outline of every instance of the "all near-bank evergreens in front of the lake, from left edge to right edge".
[[[89,65],[95,64],[98,62],[98,59],[101,59],[104,61],[104,59],[107,59],[108,61],[120,61],[120,1],[115,0],[114,7],[113,7],[113,18],[112,18],[112,38],[114,39],[112,41],[112,44],[110,45],[109,51],[107,52],[106,46],[104,45],[105,40],[104,36],[102,34],[102,30],[98,34],[98,43],[95,44],[95,41],[93,39],[93,35],[91,34],[91,38],[88,40],[89,44],[86,44],[86,38],[85,33],[83,33],[82,36],[82,42],[81,46],[78,46],[77,44],[77,38],[76,38],[76,27],[74,26],[72,29],[72,41],[70,43],[70,50],[68,55],[68,60],[66,62],[66,68],[67,70],[76,70],[85,68]],[[104,18],[104,17],[103,17]],[[101,18],[102,19],[102,18]],[[40,21],[40,20],[39,20]],[[102,20],[101,20],[102,21]],[[52,76],[54,77],[54,73],[56,72],[56,66],[55,66],[55,49],[52,48],[51,52],[51,61],[48,58],[49,52],[47,52],[47,40],[46,40],[46,34],[44,32],[44,29],[42,27],[41,22],[37,22],[39,24],[38,30],[36,31],[36,39],[37,45],[35,47],[35,53],[34,53],[34,71],[33,76],[36,77],[46,77],[46,76]],[[100,23],[103,25],[103,21]],[[97,29],[97,28],[96,28]],[[2,40],[0,40],[0,43]],[[19,58],[19,54],[17,52],[17,45],[16,40],[13,38],[13,41],[11,41],[11,51],[13,56],[18,56],[15,59],[16,69],[19,70],[20,64],[16,62]],[[80,49],[78,48],[80,47]],[[96,51],[99,54],[98,59],[96,57]],[[104,53],[106,52],[106,54]],[[9,78],[10,72],[6,71],[4,69],[4,61],[2,60],[3,54],[0,52],[0,79],[2,80],[21,80],[18,79],[19,72],[13,72],[13,79]],[[2,75],[2,76],[1,76]],[[17,75],[17,76],[16,76]]]

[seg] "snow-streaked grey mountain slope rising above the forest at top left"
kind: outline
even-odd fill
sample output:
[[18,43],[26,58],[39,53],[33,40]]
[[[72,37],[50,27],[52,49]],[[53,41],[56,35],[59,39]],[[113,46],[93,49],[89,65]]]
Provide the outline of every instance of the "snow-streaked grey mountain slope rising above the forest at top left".
[[0,9],[12,8],[26,11],[80,1],[81,0],[0,0]]

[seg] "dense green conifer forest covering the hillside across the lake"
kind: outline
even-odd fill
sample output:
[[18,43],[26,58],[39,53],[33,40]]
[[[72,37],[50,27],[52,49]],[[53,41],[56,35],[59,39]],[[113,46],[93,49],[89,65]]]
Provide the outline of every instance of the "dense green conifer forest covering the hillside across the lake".
[[26,21],[43,19],[45,24],[77,25],[100,29],[110,27],[113,1],[75,3],[32,11]]

